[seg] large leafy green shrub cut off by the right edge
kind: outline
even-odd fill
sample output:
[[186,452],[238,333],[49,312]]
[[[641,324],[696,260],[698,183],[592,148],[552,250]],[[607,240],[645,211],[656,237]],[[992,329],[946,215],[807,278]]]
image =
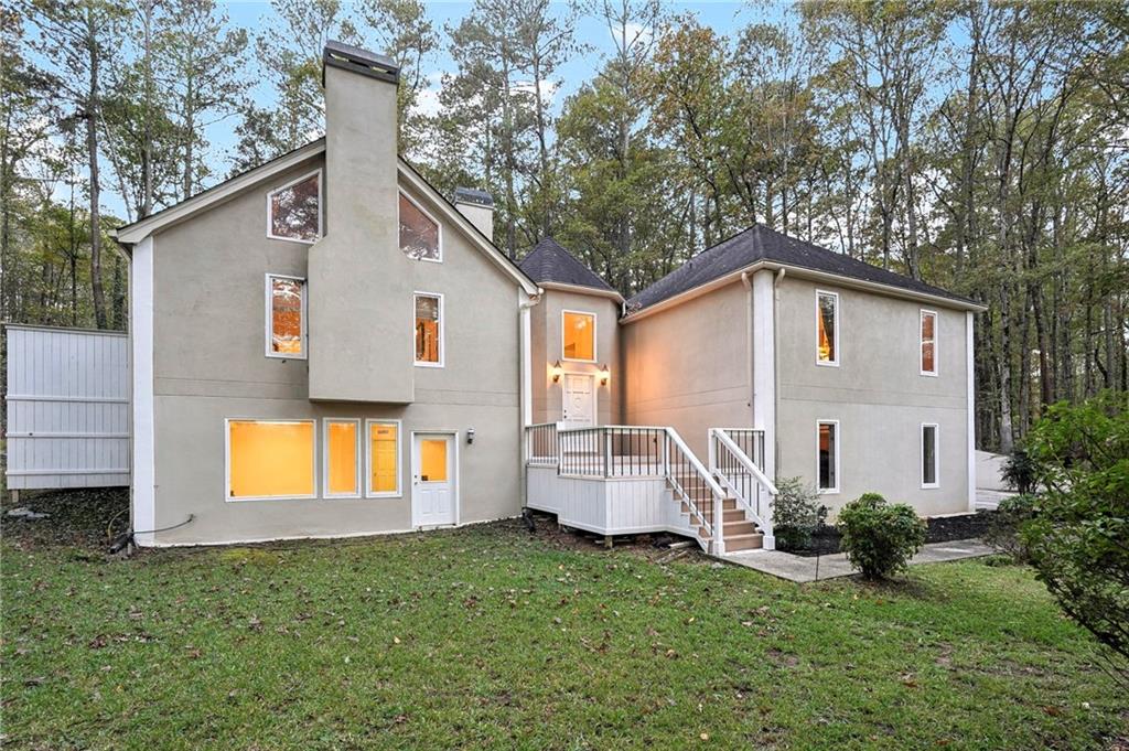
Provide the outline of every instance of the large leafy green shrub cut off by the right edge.
[[1027,448],[1043,489],[1022,530],[1031,561],[1129,683],[1129,394],[1052,405]]

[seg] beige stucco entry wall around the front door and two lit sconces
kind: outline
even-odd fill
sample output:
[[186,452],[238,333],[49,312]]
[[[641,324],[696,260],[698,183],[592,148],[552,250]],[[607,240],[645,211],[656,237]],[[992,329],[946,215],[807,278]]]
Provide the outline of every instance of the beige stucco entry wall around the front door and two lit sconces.
[[[596,361],[564,359],[561,340],[561,314],[564,311],[593,313],[596,316]],[[541,303],[531,311],[530,351],[532,363],[533,422],[557,422],[562,417],[563,379],[553,383],[552,366],[561,363],[564,373],[589,374],[596,390],[596,423],[616,425],[622,420],[620,392],[620,304],[606,296],[546,289]],[[611,377],[599,384],[599,369],[606,365]]]

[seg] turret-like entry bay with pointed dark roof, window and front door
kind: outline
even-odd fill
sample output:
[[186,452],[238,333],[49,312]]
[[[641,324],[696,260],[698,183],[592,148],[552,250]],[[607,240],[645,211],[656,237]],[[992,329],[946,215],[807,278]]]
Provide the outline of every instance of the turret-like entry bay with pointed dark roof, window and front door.
[[533,421],[572,428],[619,422],[623,298],[551,237],[520,268],[544,290],[531,320]]

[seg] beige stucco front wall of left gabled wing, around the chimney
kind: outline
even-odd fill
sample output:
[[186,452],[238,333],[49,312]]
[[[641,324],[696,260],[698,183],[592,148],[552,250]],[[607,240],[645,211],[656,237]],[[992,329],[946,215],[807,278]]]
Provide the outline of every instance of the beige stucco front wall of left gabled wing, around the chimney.
[[[411,291],[443,294],[445,367],[413,368],[399,357],[383,359],[378,339],[371,344],[374,364],[359,373],[351,370],[356,360],[342,358],[340,364],[343,373],[360,378],[379,378],[385,367],[412,369],[413,403],[310,401],[308,361],[265,357],[265,274],[305,277],[310,253],[309,245],[266,238],[266,193],[318,163],[278,175],[155,237],[156,523],[161,527],[195,515],[190,525],[156,535],[158,544],[410,529],[412,430],[458,431],[461,523],[519,512],[518,288],[457,229],[444,227],[443,263],[406,264],[405,278],[397,285],[406,290],[400,306],[403,315],[394,322],[408,332],[410,342]],[[326,178],[332,182],[332,174]],[[326,229],[332,234],[336,228]],[[351,279],[358,289],[367,286],[390,294],[385,274],[380,264],[371,263],[355,267]],[[310,279],[310,292],[314,285]],[[326,296],[310,294],[310,306]],[[324,334],[310,332],[312,353],[322,349],[332,356],[332,342],[326,344]],[[321,496],[323,417],[403,420],[403,496],[225,498],[225,418],[316,418]],[[472,427],[476,435],[467,445],[465,431]]]

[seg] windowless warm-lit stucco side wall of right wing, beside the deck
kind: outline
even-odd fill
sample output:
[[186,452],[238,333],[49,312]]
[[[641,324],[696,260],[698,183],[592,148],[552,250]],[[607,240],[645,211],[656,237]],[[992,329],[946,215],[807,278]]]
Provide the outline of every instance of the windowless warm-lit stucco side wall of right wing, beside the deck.
[[709,428],[752,425],[750,299],[736,281],[621,328],[629,423],[673,426],[703,461]]

